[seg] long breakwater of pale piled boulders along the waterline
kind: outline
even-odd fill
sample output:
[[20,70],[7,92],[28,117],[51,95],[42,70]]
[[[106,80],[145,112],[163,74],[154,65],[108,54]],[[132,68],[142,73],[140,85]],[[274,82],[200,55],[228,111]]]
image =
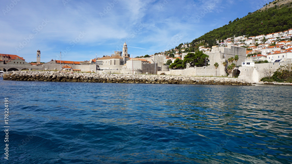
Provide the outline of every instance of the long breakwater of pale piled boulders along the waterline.
[[242,79],[227,77],[73,73],[56,71],[15,71],[13,73],[4,74],[3,79],[53,82],[251,85],[251,83],[245,82]]

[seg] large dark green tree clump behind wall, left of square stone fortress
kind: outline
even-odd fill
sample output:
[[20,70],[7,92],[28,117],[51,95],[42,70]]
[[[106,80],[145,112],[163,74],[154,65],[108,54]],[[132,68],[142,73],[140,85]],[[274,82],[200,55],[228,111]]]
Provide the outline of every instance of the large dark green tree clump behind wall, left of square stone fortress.
[[203,67],[206,65],[206,57],[208,60],[208,55],[204,54],[202,51],[197,51],[195,53],[188,53],[183,60],[183,64],[190,64],[191,67]]

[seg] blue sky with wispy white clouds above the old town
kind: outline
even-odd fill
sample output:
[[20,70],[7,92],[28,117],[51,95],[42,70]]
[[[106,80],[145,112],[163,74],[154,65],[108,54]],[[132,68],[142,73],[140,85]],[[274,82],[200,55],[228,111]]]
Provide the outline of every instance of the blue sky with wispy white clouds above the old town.
[[[271,0],[272,1],[272,0]],[[128,45],[164,52],[246,16],[267,0],[1,0],[0,54],[27,62],[86,61]]]

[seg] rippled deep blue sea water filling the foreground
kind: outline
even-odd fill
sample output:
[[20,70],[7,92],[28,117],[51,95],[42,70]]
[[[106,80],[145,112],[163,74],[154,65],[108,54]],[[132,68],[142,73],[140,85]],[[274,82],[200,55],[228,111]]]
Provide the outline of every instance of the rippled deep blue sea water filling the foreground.
[[0,86],[2,163],[292,163],[292,86]]

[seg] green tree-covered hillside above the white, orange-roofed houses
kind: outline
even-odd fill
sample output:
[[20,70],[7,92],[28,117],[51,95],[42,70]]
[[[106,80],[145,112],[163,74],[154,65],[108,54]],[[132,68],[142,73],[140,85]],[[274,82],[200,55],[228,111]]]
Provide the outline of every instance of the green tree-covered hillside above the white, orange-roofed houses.
[[[203,36],[194,39],[191,44],[205,40],[209,46],[216,43],[215,39],[224,40],[242,35],[258,36],[262,34],[286,31],[292,28],[292,4],[268,8],[267,10],[257,10],[254,13],[248,13],[245,17],[224,25],[218,29],[214,29]],[[261,24],[263,22],[263,24]]]

